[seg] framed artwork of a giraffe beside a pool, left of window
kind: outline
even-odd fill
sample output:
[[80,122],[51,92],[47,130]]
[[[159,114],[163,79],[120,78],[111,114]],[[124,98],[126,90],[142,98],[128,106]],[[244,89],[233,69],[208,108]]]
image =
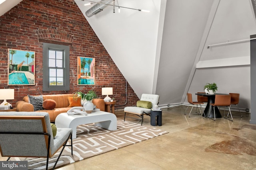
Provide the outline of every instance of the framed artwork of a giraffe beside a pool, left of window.
[[8,49],[8,85],[35,85],[35,51]]

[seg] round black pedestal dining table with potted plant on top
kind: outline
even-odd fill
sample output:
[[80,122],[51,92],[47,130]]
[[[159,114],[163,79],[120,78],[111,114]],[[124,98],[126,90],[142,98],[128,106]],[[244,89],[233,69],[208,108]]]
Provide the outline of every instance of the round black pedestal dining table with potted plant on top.
[[[229,95],[229,94],[222,94],[222,93],[215,93],[215,94],[196,93],[196,95],[205,96],[205,97],[208,98],[207,105],[204,109],[205,117],[214,118],[214,110],[213,110],[213,108],[210,110],[210,103],[215,102],[215,95],[216,94]],[[210,110],[210,113],[209,113],[209,110]],[[202,114],[202,116],[204,116],[204,114]],[[216,118],[221,118],[222,117],[221,114],[220,114],[220,110],[218,109],[217,106],[215,106],[215,117]]]

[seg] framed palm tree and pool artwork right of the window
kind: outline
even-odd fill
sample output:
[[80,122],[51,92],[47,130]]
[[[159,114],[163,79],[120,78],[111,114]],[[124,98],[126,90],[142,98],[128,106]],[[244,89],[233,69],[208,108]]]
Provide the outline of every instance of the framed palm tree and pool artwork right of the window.
[[77,84],[95,85],[95,58],[77,57]]

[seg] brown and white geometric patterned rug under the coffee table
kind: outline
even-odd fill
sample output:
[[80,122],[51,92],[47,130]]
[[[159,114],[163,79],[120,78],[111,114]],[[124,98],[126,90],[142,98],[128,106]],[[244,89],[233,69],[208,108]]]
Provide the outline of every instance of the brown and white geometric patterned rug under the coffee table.
[[[56,168],[168,133],[154,126],[141,126],[138,123],[122,119],[117,119],[116,131],[98,127],[94,123],[79,125],[76,131],[77,138],[73,139],[73,155],[71,155],[71,147],[65,147]],[[67,145],[69,144],[70,141]],[[58,155],[59,152],[49,159],[48,169],[54,166]],[[10,160],[27,160],[28,169],[46,168],[46,158],[12,157]]]

